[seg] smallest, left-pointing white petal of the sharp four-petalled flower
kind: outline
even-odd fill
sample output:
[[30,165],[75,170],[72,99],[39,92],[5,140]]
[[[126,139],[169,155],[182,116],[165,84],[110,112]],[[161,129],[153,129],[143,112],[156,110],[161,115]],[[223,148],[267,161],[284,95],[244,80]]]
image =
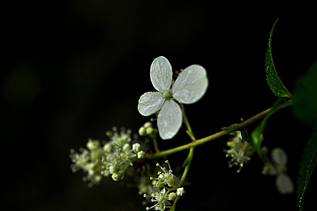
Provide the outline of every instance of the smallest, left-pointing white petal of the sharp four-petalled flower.
[[139,99],[138,110],[143,116],[149,116],[155,112],[158,112],[165,99],[161,92],[146,92]]

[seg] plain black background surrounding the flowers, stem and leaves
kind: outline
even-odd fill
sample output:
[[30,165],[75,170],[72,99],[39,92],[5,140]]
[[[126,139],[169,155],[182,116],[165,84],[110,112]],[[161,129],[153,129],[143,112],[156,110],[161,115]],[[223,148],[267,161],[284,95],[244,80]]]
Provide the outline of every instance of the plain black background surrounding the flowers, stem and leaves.
[[[193,1],[16,2],[4,7],[2,24],[1,191],[5,210],[145,210],[143,196],[105,178],[88,188],[70,169],[69,149],[87,138],[105,139],[112,126],[137,132],[149,120],[137,111],[139,97],[153,88],[149,70],[165,56],[173,70],[206,68],[209,88],[186,105],[197,138],[217,133],[269,108],[275,101],[265,77],[269,32],[276,21],[275,67],[290,92],[316,61],[312,5],[232,4]],[[312,125],[285,108],[270,117],[263,145],[284,147],[296,185]],[[256,124],[246,129],[251,132]],[[261,174],[252,156],[237,174],[223,148],[229,136],[195,148],[191,186],[177,210],[298,210],[296,193],[281,196],[275,178]],[[188,143],[184,126],[167,149]],[[172,168],[187,151],[168,157]],[[161,160],[162,161],[162,160]],[[315,207],[316,171],[306,210]],[[149,180],[150,182],[150,180]],[[150,205],[147,205],[150,206]]]

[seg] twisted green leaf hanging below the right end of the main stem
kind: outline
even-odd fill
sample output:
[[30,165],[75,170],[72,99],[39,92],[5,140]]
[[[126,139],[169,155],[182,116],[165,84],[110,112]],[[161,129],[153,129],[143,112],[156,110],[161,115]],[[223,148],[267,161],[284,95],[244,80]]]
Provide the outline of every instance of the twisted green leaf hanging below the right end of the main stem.
[[284,98],[277,99],[275,103],[273,104],[272,109],[268,112],[266,117],[262,120],[261,125],[257,126],[251,133],[252,141],[254,145],[256,146],[256,150],[260,158],[262,158],[262,153],[261,153],[261,144],[263,141],[262,134],[264,132],[266,123],[268,121],[268,117],[274,114],[277,110],[279,110],[281,108],[281,105],[283,105],[285,102],[286,100]]

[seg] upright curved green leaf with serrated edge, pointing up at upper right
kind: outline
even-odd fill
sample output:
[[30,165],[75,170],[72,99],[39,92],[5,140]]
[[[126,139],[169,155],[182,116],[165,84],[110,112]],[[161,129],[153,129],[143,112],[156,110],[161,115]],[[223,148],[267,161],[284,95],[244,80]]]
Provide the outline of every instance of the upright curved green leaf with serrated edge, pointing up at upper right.
[[268,50],[266,51],[266,56],[265,56],[266,78],[268,80],[268,85],[271,87],[271,90],[277,97],[291,98],[292,94],[288,92],[288,90],[285,88],[285,86],[281,82],[281,79],[278,77],[274,63],[273,63],[272,49],[271,49],[272,34],[273,34],[273,29],[277,21],[278,19],[275,21],[273,25],[272,31],[270,32],[270,39],[268,40]]

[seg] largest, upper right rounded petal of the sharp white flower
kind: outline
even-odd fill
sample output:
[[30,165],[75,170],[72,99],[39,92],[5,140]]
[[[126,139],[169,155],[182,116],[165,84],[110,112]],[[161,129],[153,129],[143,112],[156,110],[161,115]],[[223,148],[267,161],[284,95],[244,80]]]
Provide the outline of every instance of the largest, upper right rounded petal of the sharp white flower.
[[191,65],[179,73],[172,94],[180,103],[192,104],[204,96],[207,87],[206,69],[200,65]]

